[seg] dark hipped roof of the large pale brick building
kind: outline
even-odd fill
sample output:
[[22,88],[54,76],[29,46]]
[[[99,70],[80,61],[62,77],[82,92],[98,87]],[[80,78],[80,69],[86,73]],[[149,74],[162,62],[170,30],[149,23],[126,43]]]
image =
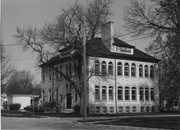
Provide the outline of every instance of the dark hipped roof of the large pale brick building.
[[[113,45],[118,47],[129,47],[134,49],[134,54],[122,54],[122,53],[115,53],[111,52],[103,43],[101,38],[93,38],[91,41],[87,43],[87,55],[94,56],[94,57],[102,57],[102,58],[113,58],[113,59],[125,59],[125,60],[134,60],[134,61],[144,61],[144,62],[152,62],[157,63],[160,60],[138,50],[135,46],[129,45],[122,40],[117,38],[114,39]],[[67,59],[67,58],[66,58]],[[61,59],[59,56],[55,56],[45,64],[54,64],[59,61],[63,61],[65,59]],[[40,66],[43,66],[42,64]]]

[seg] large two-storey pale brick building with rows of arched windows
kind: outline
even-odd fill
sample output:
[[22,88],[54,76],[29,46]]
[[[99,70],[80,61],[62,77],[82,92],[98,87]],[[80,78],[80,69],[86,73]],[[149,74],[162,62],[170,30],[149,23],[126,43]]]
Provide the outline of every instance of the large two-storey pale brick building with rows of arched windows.
[[[113,22],[102,25],[101,38],[92,39],[86,47],[90,113],[157,111],[159,90],[154,67],[158,59],[114,38]],[[67,54],[62,49],[59,56],[41,65],[42,100],[51,102],[54,97],[61,110],[71,110],[80,100],[72,85],[47,64],[77,79]]]

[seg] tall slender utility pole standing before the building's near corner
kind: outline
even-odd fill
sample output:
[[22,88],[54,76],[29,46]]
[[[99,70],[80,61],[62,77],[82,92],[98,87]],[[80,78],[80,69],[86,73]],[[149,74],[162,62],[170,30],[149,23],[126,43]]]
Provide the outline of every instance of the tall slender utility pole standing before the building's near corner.
[[83,72],[84,72],[84,100],[83,100],[83,120],[85,121],[87,118],[87,66],[86,66],[86,26],[85,26],[85,18],[83,18]]

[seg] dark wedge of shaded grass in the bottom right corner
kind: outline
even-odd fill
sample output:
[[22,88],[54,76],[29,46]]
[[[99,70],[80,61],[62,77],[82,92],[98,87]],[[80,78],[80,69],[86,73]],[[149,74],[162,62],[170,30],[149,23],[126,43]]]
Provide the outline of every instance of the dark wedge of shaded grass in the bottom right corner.
[[94,122],[94,124],[163,128],[180,130],[180,117],[140,117],[119,118]]

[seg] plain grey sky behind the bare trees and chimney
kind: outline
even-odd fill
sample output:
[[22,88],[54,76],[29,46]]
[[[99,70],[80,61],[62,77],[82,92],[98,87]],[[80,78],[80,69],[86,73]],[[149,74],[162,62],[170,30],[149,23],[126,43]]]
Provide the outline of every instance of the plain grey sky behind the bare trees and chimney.
[[[45,23],[54,21],[56,16],[61,14],[62,8],[68,8],[75,2],[76,0],[1,0],[1,40],[15,69],[30,71],[37,82],[40,82],[40,69],[36,66],[36,55],[30,51],[24,52],[20,45],[10,45],[17,43],[13,37],[16,34],[16,27],[41,28]],[[87,0],[78,0],[78,2],[85,4]],[[123,10],[128,5],[129,0],[113,0],[111,6],[113,15],[110,20],[114,21],[116,33],[127,33],[123,28],[125,24]],[[147,39],[132,40],[133,38],[129,36],[119,39],[129,41],[127,43],[142,51],[149,43]]]

